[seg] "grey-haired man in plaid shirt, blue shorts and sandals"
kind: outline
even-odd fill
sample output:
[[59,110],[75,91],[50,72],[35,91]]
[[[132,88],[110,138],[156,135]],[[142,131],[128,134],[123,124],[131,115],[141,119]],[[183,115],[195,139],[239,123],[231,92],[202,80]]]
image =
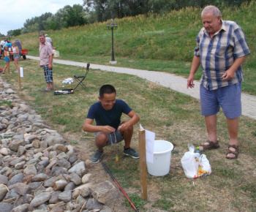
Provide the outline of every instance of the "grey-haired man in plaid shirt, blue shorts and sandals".
[[238,117],[241,116],[241,64],[250,53],[244,32],[233,21],[222,20],[217,7],[205,7],[201,13],[203,29],[197,34],[195,56],[187,79],[194,88],[195,72],[202,67],[200,80],[201,114],[205,116],[208,140],[200,151],[219,148],[217,113],[225,114],[230,140],[227,159],[238,158]]

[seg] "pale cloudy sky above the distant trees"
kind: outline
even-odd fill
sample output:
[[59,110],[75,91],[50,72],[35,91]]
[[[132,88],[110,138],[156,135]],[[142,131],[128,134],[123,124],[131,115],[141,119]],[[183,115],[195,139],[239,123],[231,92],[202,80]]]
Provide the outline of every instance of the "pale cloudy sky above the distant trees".
[[55,14],[59,9],[74,4],[83,5],[83,0],[1,0],[0,32],[20,29],[27,19],[38,17],[45,12]]

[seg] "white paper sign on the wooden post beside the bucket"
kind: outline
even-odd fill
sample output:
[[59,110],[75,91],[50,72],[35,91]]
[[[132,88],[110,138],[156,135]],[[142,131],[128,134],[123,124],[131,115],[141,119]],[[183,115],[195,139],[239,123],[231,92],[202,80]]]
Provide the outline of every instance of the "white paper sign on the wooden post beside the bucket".
[[[140,129],[143,129],[143,126],[140,124]],[[145,137],[146,137],[146,161],[147,162],[154,162],[154,139],[155,133],[150,132],[145,129]]]

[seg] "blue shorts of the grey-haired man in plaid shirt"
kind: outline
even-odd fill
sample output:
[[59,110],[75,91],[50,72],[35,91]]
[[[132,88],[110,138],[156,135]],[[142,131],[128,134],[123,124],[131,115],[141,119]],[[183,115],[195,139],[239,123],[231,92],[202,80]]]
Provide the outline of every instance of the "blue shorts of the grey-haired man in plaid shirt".
[[209,91],[200,85],[200,105],[203,116],[212,116],[219,112],[219,106],[227,118],[241,116],[241,83]]

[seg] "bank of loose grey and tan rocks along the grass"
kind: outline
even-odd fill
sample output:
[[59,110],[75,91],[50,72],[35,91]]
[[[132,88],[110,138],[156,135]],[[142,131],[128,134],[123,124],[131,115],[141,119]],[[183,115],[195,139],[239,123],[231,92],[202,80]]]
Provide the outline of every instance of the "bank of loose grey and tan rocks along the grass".
[[0,77],[0,211],[111,211],[119,192]]

